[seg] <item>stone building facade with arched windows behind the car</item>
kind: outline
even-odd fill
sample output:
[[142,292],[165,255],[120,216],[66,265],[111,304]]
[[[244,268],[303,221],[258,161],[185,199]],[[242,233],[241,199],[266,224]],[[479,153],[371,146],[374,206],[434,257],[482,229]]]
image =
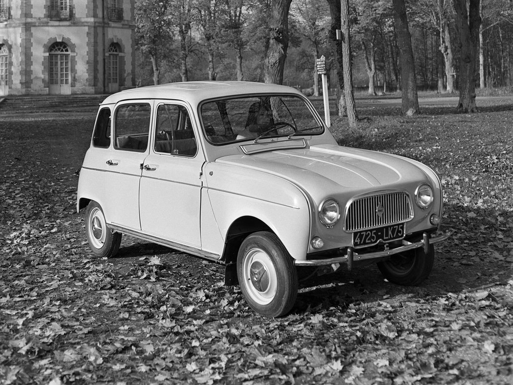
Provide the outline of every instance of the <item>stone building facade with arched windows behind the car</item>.
[[0,0],[0,96],[135,85],[135,0]]

